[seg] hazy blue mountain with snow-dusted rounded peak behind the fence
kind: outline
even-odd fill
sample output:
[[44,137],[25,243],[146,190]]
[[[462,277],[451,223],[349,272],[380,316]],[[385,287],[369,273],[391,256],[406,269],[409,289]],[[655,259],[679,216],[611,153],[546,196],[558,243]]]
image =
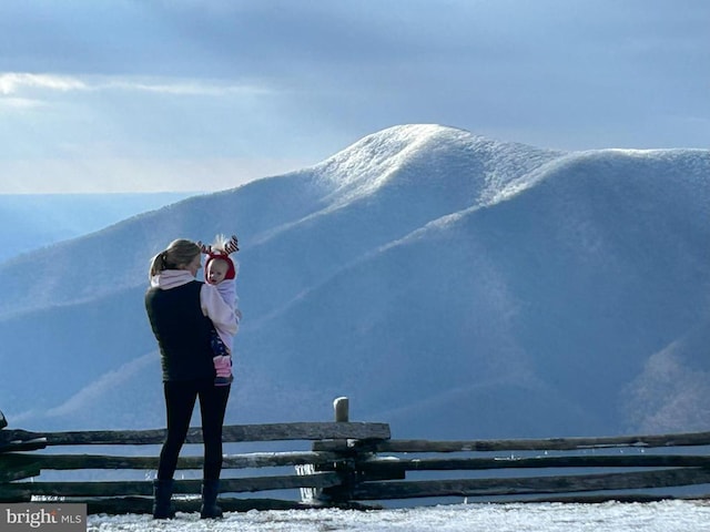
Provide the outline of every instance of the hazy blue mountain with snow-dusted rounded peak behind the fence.
[[161,427],[149,259],[234,232],[227,422],[328,420],[346,395],[397,437],[707,429],[710,151],[560,153],[439,125],[0,264],[11,424]]

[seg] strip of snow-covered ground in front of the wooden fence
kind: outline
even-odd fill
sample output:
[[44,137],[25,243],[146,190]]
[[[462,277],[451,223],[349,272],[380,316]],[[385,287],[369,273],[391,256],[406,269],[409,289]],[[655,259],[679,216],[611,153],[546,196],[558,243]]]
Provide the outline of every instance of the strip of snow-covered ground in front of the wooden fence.
[[171,521],[148,515],[91,515],[89,531],[244,532],[700,532],[710,531],[710,501],[652,503],[458,504],[403,510],[295,510],[229,513],[219,521],[179,513]]

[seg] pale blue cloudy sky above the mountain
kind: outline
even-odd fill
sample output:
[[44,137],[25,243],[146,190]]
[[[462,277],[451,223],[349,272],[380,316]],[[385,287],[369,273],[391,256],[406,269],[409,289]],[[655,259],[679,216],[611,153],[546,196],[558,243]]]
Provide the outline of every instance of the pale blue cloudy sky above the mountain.
[[0,193],[209,192],[437,123],[707,149],[707,0],[3,0]]

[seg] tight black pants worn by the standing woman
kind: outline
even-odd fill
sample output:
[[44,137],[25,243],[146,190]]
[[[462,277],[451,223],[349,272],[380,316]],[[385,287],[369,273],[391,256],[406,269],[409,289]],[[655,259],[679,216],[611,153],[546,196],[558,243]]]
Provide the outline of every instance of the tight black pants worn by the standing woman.
[[204,439],[204,480],[217,480],[222,472],[222,424],[231,386],[214,386],[213,379],[163,382],[168,436],[160,452],[158,478],[172,479],[178,456],[185,442],[190,419],[200,398]]

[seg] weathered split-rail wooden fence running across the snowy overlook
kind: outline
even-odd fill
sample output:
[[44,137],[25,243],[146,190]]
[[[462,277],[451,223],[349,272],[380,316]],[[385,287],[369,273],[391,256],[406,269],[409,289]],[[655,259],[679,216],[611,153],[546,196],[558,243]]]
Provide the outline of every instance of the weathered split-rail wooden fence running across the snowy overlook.
[[[246,511],[314,505],[378,508],[382,502],[377,501],[428,498],[437,502],[710,498],[702,491],[710,485],[710,432],[535,440],[393,440],[386,423],[351,422],[346,398],[336,399],[334,405],[333,422],[225,427],[225,443],[305,441],[311,449],[225,454],[220,505],[225,511]],[[0,430],[0,502],[62,500],[85,502],[89,513],[148,513],[152,504],[150,477],[158,469],[156,452],[57,453],[51,448],[159,446],[163,438],[163,430]],[[200,429],[191,429],[186,442],[202,443]],[[181,457],[178,468],[175,507],[179,511],[197,511],[202,458]],[[284,469],[284,474],[270,474]],[[87,474],[91,470],[113,478],[65,479],[70,471]],[[53,471],[61,472],[53,473],[57,479],[42,480]],[[143,478],[115,480],[128,471],[139,471]],[[195,478],[180,479],[183,472]],[[244,493],[285,490],[296,495],[243,498]]]

